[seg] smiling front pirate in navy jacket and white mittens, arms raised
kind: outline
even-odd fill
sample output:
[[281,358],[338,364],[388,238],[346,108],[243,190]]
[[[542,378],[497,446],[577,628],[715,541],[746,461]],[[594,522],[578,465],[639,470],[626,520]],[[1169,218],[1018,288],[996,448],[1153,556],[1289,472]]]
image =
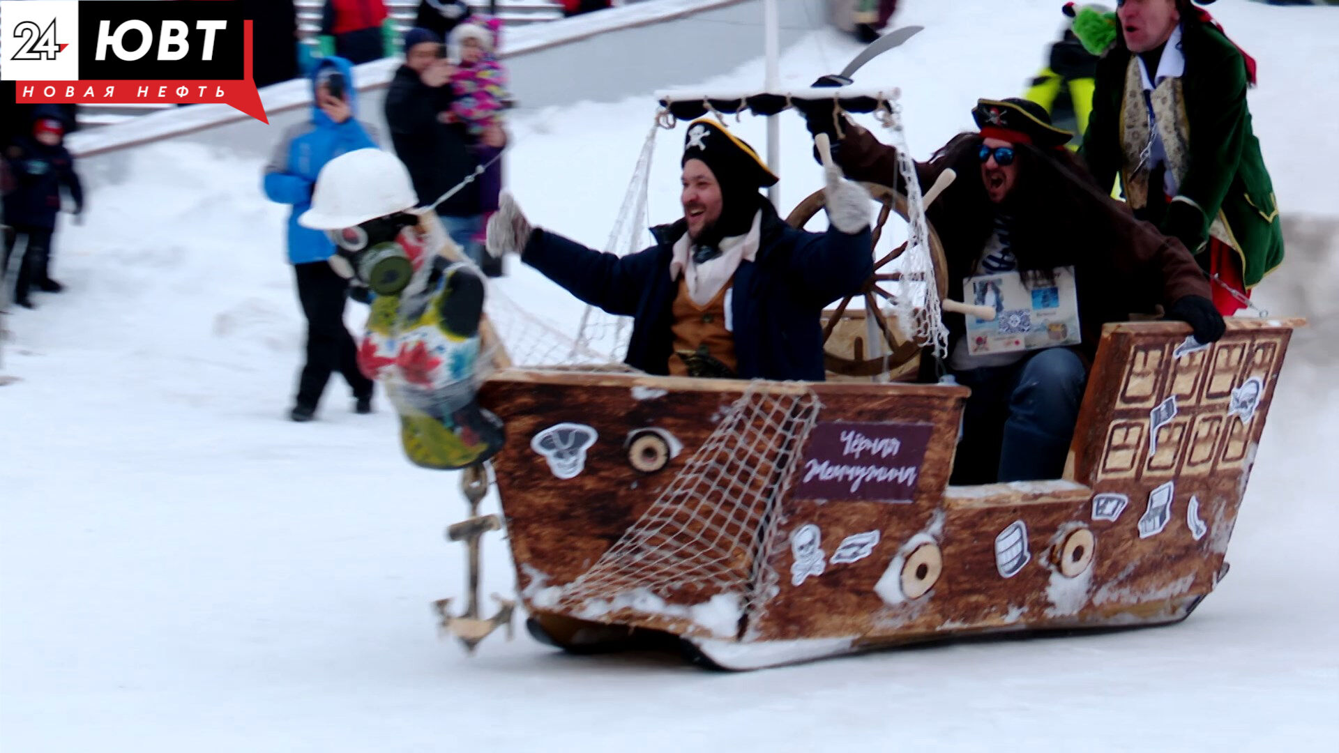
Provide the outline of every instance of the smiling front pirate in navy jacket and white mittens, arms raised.
[[823,379],[821,314],[873,273],[869,193],[836,167],[830,228],[791,228],[759,189],[777,176],[719,123],[688,126],[683,218],[616,256],[533,226],[510,194],[489,220],[494,256],[520,253],[590,305],[632,316],[625,362],[648,374]]

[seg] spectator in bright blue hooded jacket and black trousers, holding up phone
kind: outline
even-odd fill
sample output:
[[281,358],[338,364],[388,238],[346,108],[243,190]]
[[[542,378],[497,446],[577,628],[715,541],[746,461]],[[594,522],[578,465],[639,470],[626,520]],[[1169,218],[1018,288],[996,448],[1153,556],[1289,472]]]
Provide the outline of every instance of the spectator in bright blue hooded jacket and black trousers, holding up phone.
[[353,390],[355,410],[372,410],[372,381],[359,371],[358,348],[344,327],[348,281],[328,263],[335,245],[325,233],[297,224],[297,217],[312,204],[316,177],[327,162],[356,149],[376,149],[375,129],[355,117],[358,92],[352,80],[348,60],[323,59],[312,71],[311,121],[289,127],[265,166],[265,196],[293,208],[288,217],[288,260],[307,316],[307,363],[289,411],[293,421],[311,421],[316,415],[316,405],[333,371]]

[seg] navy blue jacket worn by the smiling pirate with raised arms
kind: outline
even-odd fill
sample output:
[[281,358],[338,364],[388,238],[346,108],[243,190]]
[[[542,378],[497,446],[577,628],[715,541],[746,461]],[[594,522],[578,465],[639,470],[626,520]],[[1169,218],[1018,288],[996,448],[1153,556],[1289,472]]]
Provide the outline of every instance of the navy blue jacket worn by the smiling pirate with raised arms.
[[[742,261],[732,281],[739,376],[821,382],[822,311],[838,297],[858,293],[873,273],[869,230],[810,233],[783,222],[770,202],[761,204],[757,260]],[[679,293],[670,261],[686,229],[683,220],[653,228],[656,245],[620,257],[537,228],[521,260],[585,303],[632,316],[624,362],[648,374],[668,374]]]

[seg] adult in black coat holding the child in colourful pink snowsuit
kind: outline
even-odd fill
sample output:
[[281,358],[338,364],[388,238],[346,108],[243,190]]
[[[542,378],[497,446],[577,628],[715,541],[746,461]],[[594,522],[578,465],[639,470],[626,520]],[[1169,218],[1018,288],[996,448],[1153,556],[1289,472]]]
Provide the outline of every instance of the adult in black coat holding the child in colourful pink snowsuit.
[[[404,35],[404,64],[386,92],[386,122],[395,154],[410,170],[419,205],[428,205],[474,172],[475,158],[465,125],[447,122],[454,98],[454,67],[442,58],[442,40],[428,29]],[[482,261],[473,240],[482,230],[478,184],[469,184],[437,206],[451,240]]]

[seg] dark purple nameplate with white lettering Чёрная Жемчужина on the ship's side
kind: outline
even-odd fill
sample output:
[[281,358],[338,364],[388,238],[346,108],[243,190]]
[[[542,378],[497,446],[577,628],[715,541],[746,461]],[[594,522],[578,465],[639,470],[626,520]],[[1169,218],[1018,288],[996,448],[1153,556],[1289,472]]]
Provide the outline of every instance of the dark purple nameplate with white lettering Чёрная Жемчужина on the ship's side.
[[932,430],[931,423],[818,423],[809,434],[793,496],[911,502]]

